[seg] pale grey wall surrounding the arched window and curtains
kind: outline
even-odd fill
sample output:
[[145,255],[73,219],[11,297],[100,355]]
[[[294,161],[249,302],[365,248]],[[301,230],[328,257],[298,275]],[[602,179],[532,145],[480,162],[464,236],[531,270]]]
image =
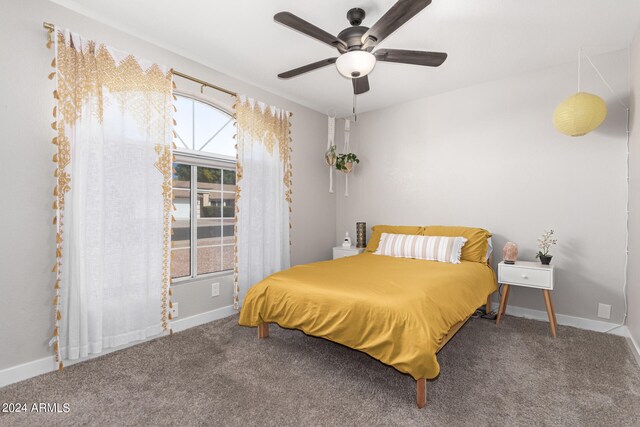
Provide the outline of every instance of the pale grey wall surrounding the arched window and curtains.
[[[0,210],[0,370],[52,354],[47,343],[52,328],[54,229],[53,83],[47,79],[52,51],[46,49],[42,22],[68,27],[89,38],[171,66],[234,91],[293,112],[292,262],[328,259],[335,236],[335,198],[325,188],[322,155],[326,116],[223,75],[175,53],[141,41],[48,1],[0,3],[0,128],[3,130],[2,193],[10,209]],[[178,89],[199,87],[176,78]],[[206,91],[222,102],[224,95]],[[180,318],[227,306],[231,279],[221,282],[221,295],[211,298],[209,281],[176,285],[174,301]]]

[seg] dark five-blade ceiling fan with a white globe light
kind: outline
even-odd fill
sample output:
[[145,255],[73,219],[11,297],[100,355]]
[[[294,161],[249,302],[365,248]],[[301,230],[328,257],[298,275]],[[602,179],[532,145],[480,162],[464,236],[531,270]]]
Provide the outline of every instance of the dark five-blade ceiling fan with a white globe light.
[[360,25],[365,17],[364,10],[351,9],[347,12],[351,27],[345,28],[337,36],[290,12],[277,13],[273,17],[276,22],[326,43],[340,52],[340,56],[294,68],[278,74],[278,77],[290,79],[335,63],[338,72],[351,79],[353,93],[359,95],[369,90],[367,74],[373,70],[376,61],[438,67],[447,59],[446,53],[400,49],[378,49],[372,52],[379,43],[430,3],[431,0],[399,0],[371,28]]

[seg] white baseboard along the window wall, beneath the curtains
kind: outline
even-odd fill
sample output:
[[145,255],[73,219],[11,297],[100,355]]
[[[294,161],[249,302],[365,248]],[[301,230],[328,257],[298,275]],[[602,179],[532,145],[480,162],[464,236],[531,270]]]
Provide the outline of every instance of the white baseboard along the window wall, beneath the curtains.
[[[231,316],[235,313],[236,313],[236,310],[233,309],[233,306],[229,305],[226,307],[217,308],[215,310],[196,314],[194,316],[185,317],[184,319],[176,319],[171,322],[171,327],[174,332],[180,332],[189,328],[193,328],[194,326],[203,325],[205,323],[213,322],[214,320]],[[136,341],[130,344],[125,344],[120,347],[110,348],[103,351],[100,354],[92,355],[82,359],[65,360],[64,365],[65,366],[75,365],[76,363],[81,363],[89,359],[94,359],[96,357],[104,356],[105,354],[109,354],[114,351],[132,347],[134,345],[143,343],[145,341],[150,341],[155,338],[158,338],[158,335],[154,337],[150,337],[149,339],[144,341]],[[23,363],[17,366],[12,366],[10,368],[6,368],[0,371],[0,387],[17,383],[18,381],[23,381],[32,377],[36,377],[38,375],[46,374],[47,372],[53,372],[56,369],[58,369],[58,366],[56,364],[55,356],[43,357],[42,359]]]

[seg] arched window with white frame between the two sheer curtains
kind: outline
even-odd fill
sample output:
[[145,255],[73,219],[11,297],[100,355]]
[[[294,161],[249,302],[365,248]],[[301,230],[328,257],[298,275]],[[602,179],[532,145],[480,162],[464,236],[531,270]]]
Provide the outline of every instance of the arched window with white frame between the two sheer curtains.
[[179,281],[233,269],[236,149],[231,114],[176,97],[171,277]]

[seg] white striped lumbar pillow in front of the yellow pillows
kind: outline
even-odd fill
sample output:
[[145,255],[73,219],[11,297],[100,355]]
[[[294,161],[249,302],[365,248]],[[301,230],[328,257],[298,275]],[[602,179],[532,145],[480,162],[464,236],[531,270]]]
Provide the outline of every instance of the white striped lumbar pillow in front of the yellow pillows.
[[376,255],[460,264],[464,237],[382,233]]

